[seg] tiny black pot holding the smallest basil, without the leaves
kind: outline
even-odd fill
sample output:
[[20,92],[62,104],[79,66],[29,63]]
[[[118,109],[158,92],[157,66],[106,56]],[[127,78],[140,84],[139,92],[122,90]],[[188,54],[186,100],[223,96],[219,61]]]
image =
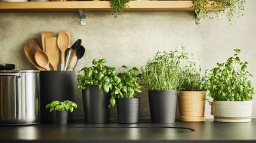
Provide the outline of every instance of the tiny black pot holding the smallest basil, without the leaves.
[[69,118],[69,111],[53,111],[54,124],[67,124]]

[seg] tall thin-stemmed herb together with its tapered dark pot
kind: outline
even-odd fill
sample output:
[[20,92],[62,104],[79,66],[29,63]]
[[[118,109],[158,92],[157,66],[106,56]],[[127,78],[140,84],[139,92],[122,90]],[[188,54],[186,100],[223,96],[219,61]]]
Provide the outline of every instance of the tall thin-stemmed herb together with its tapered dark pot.
[[177,91],[183,83],[183,60],[187,54],[158,51],[146,66],[141,68],[144,87],[148,89],[152,123],[174,123]]

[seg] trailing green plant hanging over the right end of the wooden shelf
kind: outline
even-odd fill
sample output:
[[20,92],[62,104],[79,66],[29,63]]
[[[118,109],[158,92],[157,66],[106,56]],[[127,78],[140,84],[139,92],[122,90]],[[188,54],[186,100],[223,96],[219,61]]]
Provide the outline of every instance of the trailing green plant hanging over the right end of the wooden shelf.
[[193,1],[193,10],[197,15],[197,24],[200,23],[201,18],[208,17],[207,5],[209,4],[213,9],[217,10],[217,17],[220,14],[226,14],[229,21],[232,21],[232,18],[240,17],[243,15],[243,10],[245,8],[245,0],[195,0]]

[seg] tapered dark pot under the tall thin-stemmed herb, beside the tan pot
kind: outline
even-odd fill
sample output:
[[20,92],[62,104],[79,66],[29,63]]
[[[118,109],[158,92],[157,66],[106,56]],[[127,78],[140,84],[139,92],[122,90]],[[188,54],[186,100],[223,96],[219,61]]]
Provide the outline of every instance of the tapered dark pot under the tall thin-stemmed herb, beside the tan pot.
[[149,91],[149,107],[152,123],[174,123],[177,91]]

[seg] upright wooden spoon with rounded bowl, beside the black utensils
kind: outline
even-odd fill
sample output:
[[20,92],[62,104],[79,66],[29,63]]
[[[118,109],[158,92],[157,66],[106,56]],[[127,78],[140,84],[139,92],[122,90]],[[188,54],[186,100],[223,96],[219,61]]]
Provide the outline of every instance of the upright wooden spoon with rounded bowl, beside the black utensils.
[[70,47],[70,36],[67,32],[60,32],[58,34],[57,45],[61,51],[61,70],[63,70],[65,51]]

